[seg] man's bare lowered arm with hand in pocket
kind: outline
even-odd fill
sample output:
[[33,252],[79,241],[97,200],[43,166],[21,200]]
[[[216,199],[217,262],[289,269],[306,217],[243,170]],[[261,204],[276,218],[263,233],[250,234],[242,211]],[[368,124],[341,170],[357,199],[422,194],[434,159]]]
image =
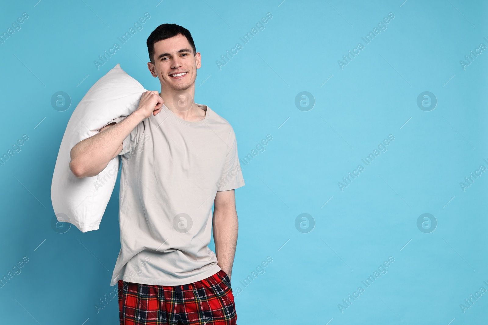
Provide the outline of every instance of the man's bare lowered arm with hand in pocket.
[[230,279],[239,227],[234,190],[217,192],[212,222],[217,264]]

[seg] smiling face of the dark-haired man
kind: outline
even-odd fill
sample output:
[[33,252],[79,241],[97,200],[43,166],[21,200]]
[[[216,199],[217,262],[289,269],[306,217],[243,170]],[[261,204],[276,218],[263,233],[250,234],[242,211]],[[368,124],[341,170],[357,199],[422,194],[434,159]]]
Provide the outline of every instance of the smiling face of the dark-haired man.
[[197,69],[201,67],[200,52],[193,55],[193,49],[181,34],[154,43],[154,65],[148,63],[154,77],[158,77],[164,88],[181,91],[195,83]]

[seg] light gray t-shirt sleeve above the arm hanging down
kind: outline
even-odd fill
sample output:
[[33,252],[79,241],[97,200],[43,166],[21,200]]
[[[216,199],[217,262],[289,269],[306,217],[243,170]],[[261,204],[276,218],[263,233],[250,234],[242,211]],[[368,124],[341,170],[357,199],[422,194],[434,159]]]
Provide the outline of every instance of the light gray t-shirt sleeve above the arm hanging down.
[[234,130],[231,129],[227,142],[227,155],[224,170],[217,191],[228,191],[244,186],[244,177],[237,154],[237,140]]

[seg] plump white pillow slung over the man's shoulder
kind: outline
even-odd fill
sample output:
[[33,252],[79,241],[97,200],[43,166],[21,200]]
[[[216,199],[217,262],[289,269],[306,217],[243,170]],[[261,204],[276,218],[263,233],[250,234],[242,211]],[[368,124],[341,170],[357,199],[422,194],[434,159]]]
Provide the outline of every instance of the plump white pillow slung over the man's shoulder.
[[70,151],[105,125],[135,111],[146,90],[117,64],[102,76],[73,111],[61,141],[51,184],[51,201],[57,220],[82,232],[99,229],[117,180],[119,156],[97,176],[76,177],[69,169]]

